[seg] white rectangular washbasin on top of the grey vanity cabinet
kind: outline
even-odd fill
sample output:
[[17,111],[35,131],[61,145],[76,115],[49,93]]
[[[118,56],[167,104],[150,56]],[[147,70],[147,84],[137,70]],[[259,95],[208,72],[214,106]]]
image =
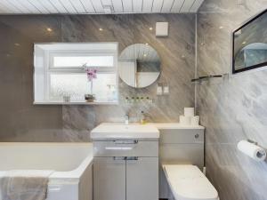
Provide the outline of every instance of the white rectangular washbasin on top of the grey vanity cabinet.
[[116,124],[105,123],[91,132],[92,140],[109,139],[158,139],[158,128],[152,124]]

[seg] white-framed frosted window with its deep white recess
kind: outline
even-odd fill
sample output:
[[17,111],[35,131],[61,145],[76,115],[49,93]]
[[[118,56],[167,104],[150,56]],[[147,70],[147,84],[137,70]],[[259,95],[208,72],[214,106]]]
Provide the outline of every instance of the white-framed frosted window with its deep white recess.
[[35,103],[117,103],[117,44],[35,44]]

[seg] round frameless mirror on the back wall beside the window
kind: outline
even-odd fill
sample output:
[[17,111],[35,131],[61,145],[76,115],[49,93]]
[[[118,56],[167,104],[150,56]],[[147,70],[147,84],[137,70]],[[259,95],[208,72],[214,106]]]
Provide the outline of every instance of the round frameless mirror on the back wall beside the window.
[[153,84],[160,74],[158,52],[149,44],[132,44],[121,52],[118,59],[120,78],[135,88]]

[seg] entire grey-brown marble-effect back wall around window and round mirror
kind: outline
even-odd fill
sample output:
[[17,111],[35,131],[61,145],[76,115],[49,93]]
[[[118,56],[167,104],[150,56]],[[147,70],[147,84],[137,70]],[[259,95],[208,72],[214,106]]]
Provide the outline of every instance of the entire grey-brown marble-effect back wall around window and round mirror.
[[[155,36],[157,21],[169,22],[169,36]],[[182,108],[194,104],[194,14],[0,16],[0,40],[0,141],[88,141],[95,125],[122,122],[125,112],[132,121],[143,110],[148,121],[176,122]],[[117,106],[33,106],[35,42],[118,42],[119,52],[149,43],[162,60],[158,82],[169,84],[170,95],[157,97],[157,84],[137,90],[119,81]],[[129,105],[126,96],[154,103]]]

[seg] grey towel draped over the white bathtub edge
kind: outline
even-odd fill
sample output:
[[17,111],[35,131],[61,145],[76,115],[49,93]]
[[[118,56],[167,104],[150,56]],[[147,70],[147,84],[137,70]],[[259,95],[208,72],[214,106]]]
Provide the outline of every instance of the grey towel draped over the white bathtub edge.
[[9,171],[0,178],[0,200],[44,200],[51,171]]

